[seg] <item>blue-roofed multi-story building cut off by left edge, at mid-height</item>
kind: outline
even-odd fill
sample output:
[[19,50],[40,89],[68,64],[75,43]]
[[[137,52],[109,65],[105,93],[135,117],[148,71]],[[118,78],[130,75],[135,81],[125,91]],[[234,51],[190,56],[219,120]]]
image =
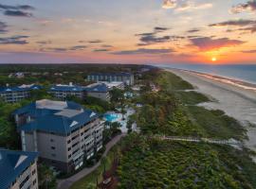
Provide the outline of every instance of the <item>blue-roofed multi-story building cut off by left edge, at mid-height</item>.
[[26,99],[30,96],[32,90],[38,90],[42,87],[39,85],[21,85],[18,87],[0,87],[0,97],[6,102],[14,103]]

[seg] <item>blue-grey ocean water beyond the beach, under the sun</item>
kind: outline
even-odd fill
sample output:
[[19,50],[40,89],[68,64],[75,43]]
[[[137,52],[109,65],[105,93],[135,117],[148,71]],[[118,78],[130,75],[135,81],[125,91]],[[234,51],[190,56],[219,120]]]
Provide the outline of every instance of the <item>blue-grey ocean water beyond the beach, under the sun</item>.
[[210,74],[218,77],[228,77],[256,84],[256,64],[229,64],[229,65],[207,65],[207,64],[159,64],[161,68],[177,68]]

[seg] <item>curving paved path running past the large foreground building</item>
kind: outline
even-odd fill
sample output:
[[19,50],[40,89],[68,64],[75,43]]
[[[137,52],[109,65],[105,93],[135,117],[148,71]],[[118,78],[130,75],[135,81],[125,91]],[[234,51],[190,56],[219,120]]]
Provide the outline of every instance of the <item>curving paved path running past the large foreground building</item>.
[[[108,151],[115,146],[119,140],[124,136],[125,134],[120,134],[118,136],[116,136],[114,139],[112,139],[107,145],[106,145],[106,150],[103,153],[103,157],[105,157],[108,153]],[[70,178],[64,179],[64,180],[57,180],[58,181],[58,189],[68,189],[70,188],[70,186],[78,181],[81,180],[83,177],[85,177],[86,175],[90,174],[91,172],[93,172],[95,169],[98,168],[98,166],[100,166],[101,161],[99,161],[98,163],[96,163],[94,166],[89,167],[89,168],[84,168],[82,169],[82,171],[78,172],[77,174],[71,176]]]

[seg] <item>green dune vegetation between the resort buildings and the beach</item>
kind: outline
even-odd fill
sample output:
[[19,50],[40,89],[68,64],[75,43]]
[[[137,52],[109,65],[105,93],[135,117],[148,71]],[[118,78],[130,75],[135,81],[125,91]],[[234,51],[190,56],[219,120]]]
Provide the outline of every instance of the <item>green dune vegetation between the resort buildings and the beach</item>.
[[256,188],[254,152],[228,145],[165,141],[167,136],[206,137],[219,140],[247,138],[246,129],[225,112],[196,106],[210,98],[165,71],[143,77],[160,88],[134,99],[139,134],[125,139],[117,170],[119,188]]

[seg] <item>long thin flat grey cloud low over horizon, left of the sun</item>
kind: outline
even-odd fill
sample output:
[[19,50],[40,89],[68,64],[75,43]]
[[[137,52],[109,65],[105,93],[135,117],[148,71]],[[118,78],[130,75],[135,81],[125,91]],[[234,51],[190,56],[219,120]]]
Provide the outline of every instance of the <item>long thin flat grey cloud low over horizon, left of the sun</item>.
[[139,54],[169,54],[173,53],[173,49],[149,49],[149,48],[138,48],[137,50],[124,50],[114,52],[114,55],[139,55]]

